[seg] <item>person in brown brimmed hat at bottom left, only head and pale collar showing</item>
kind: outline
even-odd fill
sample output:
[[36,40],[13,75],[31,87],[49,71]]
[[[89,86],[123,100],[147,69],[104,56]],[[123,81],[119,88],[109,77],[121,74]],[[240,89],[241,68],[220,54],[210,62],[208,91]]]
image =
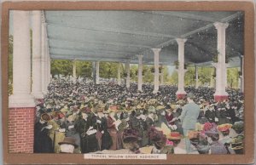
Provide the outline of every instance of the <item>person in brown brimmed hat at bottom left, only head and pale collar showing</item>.
[[78,147],[75,143],[75,139],[72,137],[66,137],[63,141],[58,143],[61,148],[60,153],[73,153],[74,149]]

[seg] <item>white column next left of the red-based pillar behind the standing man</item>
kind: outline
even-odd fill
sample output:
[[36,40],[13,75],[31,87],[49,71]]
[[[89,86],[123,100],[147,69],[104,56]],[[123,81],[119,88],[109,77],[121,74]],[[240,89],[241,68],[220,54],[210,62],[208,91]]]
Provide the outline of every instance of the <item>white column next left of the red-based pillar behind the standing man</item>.
[[156,94],[159,90],[159,53],[160,48],[152,48],[154,52],[154,91],[153,93]]

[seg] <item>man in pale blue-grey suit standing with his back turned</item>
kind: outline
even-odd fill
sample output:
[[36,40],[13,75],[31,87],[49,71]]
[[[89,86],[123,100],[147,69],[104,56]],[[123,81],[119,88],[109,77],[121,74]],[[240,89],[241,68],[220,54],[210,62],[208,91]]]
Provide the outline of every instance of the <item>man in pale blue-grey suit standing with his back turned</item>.
[[183,111],[180,117],[178,117],[182,122],[183,135],[185,138],[186,151],[189,153],[190,149],[190,140],[187,138],[189,130],[195,129],[195,123],[200,113],[199,105],[196,105],[194,102],[195,95],[192,93],[187,94],[188,104],[183,106]]

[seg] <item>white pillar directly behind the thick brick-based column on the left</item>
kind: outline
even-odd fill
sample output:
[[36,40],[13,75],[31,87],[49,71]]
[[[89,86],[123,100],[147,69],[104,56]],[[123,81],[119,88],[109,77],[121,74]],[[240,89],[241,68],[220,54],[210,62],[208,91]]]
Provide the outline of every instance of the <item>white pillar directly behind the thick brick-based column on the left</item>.
[[41,11],[32,11],[32,95],[43,99],[41,68]]

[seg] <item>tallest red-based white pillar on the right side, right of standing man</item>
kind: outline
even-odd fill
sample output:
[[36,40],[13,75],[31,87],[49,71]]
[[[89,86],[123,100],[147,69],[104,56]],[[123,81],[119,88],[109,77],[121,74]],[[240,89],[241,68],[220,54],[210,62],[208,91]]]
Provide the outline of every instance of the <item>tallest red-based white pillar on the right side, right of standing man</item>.
[[229,26],[227,23],[214,23],[218,31],[218,63],[214,64],[216,68],[216,91],[214,99],[216,101],[222,101],[228,99],[228,93],[225,91],[227,85],[227,65],[225,63],[225,39],[226,28]]

